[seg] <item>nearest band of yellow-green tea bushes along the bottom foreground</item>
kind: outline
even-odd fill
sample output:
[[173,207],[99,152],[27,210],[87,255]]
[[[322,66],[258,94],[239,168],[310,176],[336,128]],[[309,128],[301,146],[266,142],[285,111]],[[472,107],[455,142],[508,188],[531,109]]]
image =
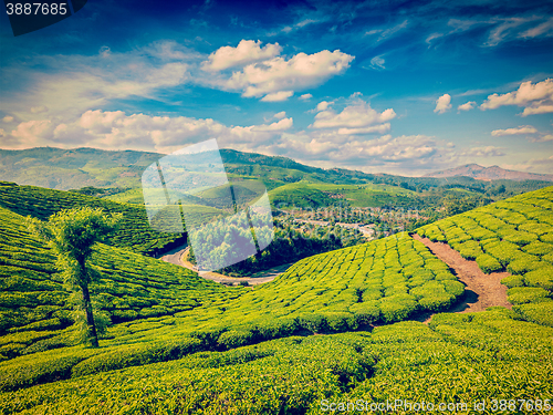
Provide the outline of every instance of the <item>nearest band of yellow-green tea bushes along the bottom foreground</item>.
[[421,402],[435,409],[419,413],[471,413],[484,401],[479,413],[491,414],[492,400],[495,412],[547,413],[552,336],[504,309],[440,314],[430,326],[291,336],[4,392],[0,413],[320,414],[338,403],[378,413],[397,400],[397,413],[415,413],[409,403]]

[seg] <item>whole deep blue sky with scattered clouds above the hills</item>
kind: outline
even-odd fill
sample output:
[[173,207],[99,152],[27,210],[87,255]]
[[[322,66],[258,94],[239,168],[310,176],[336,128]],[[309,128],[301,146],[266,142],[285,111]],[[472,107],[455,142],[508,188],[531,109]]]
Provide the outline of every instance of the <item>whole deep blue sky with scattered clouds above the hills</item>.
[[[261,6],[262,4],[262,6]],[[14,38],[0,147],[220,147],[553,174],[551,1],[88,1]]]

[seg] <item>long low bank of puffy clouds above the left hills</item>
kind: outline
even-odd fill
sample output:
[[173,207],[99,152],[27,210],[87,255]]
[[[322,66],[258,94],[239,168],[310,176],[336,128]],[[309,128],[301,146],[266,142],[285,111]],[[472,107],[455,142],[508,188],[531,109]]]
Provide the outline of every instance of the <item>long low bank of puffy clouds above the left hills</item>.
[[10,148],[41,145],[87,146],[105,149],[136,148],[173,152],[184,145],[217,138],[220,144],[263,143],[293,126],[291,117],[272,124],[226,126],[211,118],[126,115],[122,111],[86,111],[72,123],[33,120],[6,133]]

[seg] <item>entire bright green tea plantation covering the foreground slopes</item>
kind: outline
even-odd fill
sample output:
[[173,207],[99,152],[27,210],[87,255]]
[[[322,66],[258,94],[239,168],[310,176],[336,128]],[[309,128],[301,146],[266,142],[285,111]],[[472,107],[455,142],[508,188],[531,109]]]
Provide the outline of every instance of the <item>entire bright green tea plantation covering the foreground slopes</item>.
[[[113,323],[100,349],[74,344],[53,258],[11,197],[0,208],[1,414],[319,414],[333,403],[382,413],[371,404],[386,400],[424,401],[435,413],[466,403],[445,411],[460,414],[553,406],[553,188],[418,230],[512,272],[513,310],[406,321],[447,310],[463,292],[406,232],[305,258],[254,288],[100,245],[96,307]],[[515,249],[507,257],[498,243]],[[477,401],[484,411],[473,411]]]

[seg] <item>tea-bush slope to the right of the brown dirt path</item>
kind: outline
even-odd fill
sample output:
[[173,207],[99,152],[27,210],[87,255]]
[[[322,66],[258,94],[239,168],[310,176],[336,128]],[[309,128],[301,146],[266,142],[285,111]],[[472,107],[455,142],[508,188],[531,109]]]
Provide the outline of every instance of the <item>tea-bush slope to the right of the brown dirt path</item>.
[[448,242],[484,272],[507,270],[509,301],[525,318],[553,325],[553,188],[520,195],[417,230]]

